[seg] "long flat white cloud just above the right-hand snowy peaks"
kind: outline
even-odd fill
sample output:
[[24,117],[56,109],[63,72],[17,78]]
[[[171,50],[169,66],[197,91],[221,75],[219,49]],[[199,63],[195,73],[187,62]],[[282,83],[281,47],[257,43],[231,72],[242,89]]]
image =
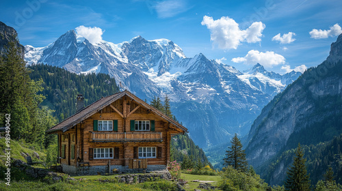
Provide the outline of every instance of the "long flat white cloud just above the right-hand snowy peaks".
[[272,68],[274,65],[280,65],[285,63],[285,57],[278,55],[273,51],[266,51],[265,53],[258,50],[248,51],[245,57],[237,57],[232,59],[235,63],[244,63],[248,65],[254,65],[260,63],[261,65]]

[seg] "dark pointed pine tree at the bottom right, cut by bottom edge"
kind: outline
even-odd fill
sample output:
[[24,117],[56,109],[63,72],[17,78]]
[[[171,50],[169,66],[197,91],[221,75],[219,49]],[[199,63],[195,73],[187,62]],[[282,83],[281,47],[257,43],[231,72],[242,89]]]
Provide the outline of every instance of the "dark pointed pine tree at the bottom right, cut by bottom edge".
[[292,166],[287,170],[287,180],[285,181],[286,190],[306,191],[311,190],[311,181],[306,172],[304,153],[298,143],[297,150]]

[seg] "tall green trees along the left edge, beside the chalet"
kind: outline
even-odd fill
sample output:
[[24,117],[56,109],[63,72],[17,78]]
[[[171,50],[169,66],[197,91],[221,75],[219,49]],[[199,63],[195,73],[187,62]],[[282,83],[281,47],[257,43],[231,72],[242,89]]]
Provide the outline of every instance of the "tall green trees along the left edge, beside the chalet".
[[57,121],[49,109],[40,106],[44,96],[38,92],[43,81],[29,78],[16,41],[8,42],[5,53],[0,54],[0,126],[5,125],[2,117],[10,114],[12,139],[47,147],[56,140],[45,131]]

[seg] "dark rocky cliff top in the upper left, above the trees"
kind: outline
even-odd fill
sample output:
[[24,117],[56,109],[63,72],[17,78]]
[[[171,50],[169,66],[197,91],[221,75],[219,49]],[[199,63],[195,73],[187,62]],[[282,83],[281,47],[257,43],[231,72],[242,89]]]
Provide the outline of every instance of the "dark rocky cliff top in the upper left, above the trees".
[[16,39],[17,35],[18,33],[16,33],[15,29],[8,27],[5,23],[0,21],[0,56],[5,53],[5,47],[8,47],[9,42],[16,42],[15,45],[20,48],[20,52],[18,54],[20,54],[21,57],[24,57],[25,48]]

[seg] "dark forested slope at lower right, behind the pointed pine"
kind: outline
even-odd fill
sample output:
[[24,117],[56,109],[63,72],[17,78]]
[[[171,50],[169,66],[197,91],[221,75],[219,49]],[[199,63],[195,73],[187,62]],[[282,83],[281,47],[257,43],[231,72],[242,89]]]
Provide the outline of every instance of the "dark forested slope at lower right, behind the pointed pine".
[[[317,145],[302,145],[306,166],[310,173],[311,183],[315,185],[319,179],[324,179],[322,172],[332,167],[335,180],[342,183],[342,134],[335,136],[331,141],[319,143]],[[281,185],[285,181],[286,166],[293,162],[295,149],[287,150],[273,160],[272,164],[266,164],[259,167],[261,176],[271,185]]]

